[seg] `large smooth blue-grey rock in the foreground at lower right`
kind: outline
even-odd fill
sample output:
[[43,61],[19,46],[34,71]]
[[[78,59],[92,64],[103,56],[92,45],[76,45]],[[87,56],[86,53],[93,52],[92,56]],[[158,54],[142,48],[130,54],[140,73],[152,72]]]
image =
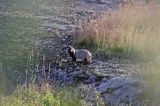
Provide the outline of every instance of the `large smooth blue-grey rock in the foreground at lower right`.
[[101,83],[97,90],[111,106],[140,104],[138,96],[147,91],[146,83],[131,76],[119,76]]

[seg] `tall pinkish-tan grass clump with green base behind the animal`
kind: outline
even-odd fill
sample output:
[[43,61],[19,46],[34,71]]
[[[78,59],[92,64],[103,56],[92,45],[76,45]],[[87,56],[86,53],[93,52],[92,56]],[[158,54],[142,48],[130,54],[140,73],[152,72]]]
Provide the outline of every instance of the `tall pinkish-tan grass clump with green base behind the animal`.
[[80,27],[75,44],[99,55],[135,56],[157,53],[160,28],[159,6],[124,7]]

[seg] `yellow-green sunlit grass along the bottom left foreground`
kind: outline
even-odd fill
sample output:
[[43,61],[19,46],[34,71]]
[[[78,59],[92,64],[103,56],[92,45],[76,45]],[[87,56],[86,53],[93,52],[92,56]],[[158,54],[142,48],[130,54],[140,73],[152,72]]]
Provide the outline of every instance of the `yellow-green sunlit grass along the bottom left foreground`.
[[11,96],[0,97],[1,106],[83,106],[83,103],[73,88],[58,90],[48,84],[19,87]]

